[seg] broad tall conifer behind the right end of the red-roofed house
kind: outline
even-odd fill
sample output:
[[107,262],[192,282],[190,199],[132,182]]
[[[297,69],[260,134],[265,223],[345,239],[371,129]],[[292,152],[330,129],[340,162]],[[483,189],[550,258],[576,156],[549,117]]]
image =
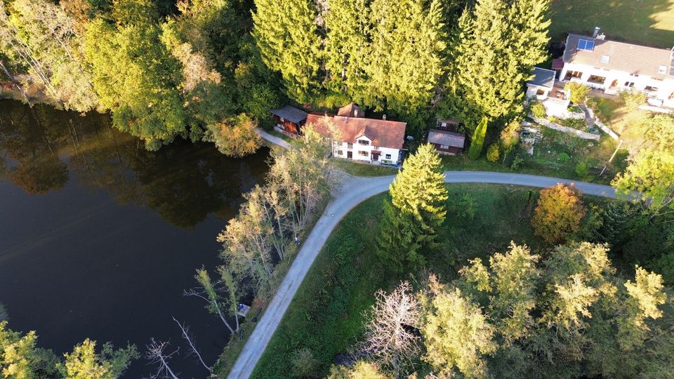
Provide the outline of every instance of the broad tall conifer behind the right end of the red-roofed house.
[[364,105],[407,118],[428,107],[446,69],[443,17],[439,0],[372,2]]

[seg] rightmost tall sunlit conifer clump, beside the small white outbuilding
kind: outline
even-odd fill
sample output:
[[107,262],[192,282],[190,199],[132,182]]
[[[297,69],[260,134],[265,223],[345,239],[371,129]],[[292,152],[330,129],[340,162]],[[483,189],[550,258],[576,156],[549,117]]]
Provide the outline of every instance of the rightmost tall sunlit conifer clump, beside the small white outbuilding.
[[523,112],[524,81],[545,59],[549,0],[479,0],[460,19],[447,101],[466,121]]

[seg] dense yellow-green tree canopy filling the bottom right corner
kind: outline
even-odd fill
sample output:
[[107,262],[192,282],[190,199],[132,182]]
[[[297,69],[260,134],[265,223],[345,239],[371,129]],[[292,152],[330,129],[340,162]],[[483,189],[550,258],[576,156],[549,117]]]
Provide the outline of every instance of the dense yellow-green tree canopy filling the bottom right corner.
[[[674,308],[662,277],[637,266],[625,279],[607,252],[574,242],[538,255],[512,243],[488,264],[471,260],[449,283],[431,275],[417,293],[423,349],[406,357],[417,364],[390,377],[669,377]],[[387,300],[391,310],[414,304]],[[393,371],[376,354],[367,360]]]

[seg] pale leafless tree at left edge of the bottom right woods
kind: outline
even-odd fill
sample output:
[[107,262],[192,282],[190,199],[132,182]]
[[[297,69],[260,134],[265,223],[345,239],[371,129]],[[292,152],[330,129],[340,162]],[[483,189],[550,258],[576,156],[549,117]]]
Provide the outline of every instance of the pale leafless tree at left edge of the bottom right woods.
[[388,295],[383,290],[377,291],[375,298],[366,314],[370,321],[365,325],[363,351],[389,366],[398,378],[404,364],[420,352],[417,329],[421,306],[407,281]]

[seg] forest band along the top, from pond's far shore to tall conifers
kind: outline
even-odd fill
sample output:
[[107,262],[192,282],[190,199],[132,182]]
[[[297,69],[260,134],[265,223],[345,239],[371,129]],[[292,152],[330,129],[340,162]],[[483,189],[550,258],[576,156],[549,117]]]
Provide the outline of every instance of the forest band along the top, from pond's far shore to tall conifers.
[[254,151],[267,110],[357,102],[421,135],[524,111],[548,1],[4,0],[6,92],[88,112],[159,149],[177,137]]

